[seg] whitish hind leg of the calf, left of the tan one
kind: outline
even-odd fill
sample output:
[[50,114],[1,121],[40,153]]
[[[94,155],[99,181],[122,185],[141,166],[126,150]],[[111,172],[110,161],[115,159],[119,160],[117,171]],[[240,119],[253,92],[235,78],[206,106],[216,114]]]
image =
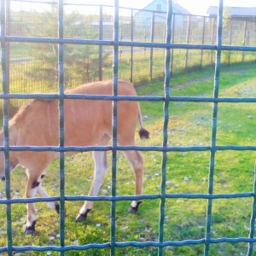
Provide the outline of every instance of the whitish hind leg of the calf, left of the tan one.
[[[101,145],[107,145],[110,137],[107,135],[102,138]],[[90,187],[90,196],[96,196],[99,192],[99,189],[102,186],[102,181],[105,177],[105,174],[108,169],[108,160],[107,160],[107,151],[94,151],[93,158],[95,162],[95,172],[92,185]],[[84,206],[81,207],[79,215],[76,218],[76,221],[82,221],[87,217],[88,212],[90,212],[93,206],[93,201],[84,201]]]

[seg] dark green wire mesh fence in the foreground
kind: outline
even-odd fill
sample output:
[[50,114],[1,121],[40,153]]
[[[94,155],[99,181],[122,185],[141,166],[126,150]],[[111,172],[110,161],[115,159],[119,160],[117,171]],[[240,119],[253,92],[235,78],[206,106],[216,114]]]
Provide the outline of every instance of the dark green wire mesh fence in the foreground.
[[[16,1],[17,2],[17,1]],[[22,2],[22,1],[20,1]],[[218,96],[218,81],[220,73],[220,63],[221,55],[223,51],[243,51],[243,52],[255,52],[255,46],[227,46],[223,44],[223,0],[219,0],[218,7],[218,25],[216,28],[217,39],[215,44],[191,44],[192,41],[188,40],[183,42],[182,40],[177,44],[172,40],[172,0],[168,1],[168,13],[166,16],[166,41],[164,43],[155,43],[155,42],[135,42],[125,41],[125,38],[122,38],[120,41],[120,30],[119,30],[119,0],[114,0],[114,20],[113,20],[113,40],[106,40],[101,38],[101,40],[96,39],[80,39],[73,38],[72,34],[70,37],[65,36],[64,29],[64,3],[63,0],[59,0],[57,4],[58,9],[58,35],[55,38],[51,35],[49,38],[38,38],[38,37],[22,37],[22,36],[9,36],[6,32],[6,27],[8,26],[6,19],[6,8],[9,4],[9,1],[1,0],[1,49],[2,49],[2,85],[3,93],[0,94],[0,98],[3,99],[3,131],[4,131],[4,141],[1,145],[1,150],[4,152],[5,157],[5,190],[6,190],[6,199],[0,199],[0,204],[6,205],[6,223],[7,223],[7,242],[6,246],[0,247],[1,252],[7,252],[8,255],[12,255],[14,252],[23,252],[23,251],[35,251],[35,252],[45,252],[45,251],[56,251],[60,252],[61,255],[65,255],[65,252],[69,250],[78,250],[84,251],[90,248],[106,248],[110,247],[110,254],[116,254],[116,247],[158,247],[158,254],[163,255],[163,248],[167,246],[188,246],[188,245],[199,245],[204,244],[205,250],[204,254],[209,255],[209,249],[212,244],[222,243],[222,242],[247,242],[248,251],[247,255],[253,255],[253,244],[256,242],[254,237],[254,222],[256,215],[256,203],[255,203],[255,181],[254,189],[251,193],[235,193],[235,194],[213,194],[213,174],[215,171],[215,154],[224,150],[256,150],[256,146],[219,146],[216,144],[216,133],[217,133],[217,119],[218,119],[218,103],[219,102],[256,102],[255,98],[220,98]],[[188,26],[191,22],[188,18]],[[212,26],[213,29],[213,26]],[[121,31],[122,32],[122,31]],[[188,39],[188,38],[187,38]],[[211,43],[215,40],[212,39]],[[26,94],[26,93],[10,93],[9,91],[9,55],[7,54],[7,44],[34,44],[34,43],[45,43],[48,45],[57,45],[56,49],[58,52],[58,94]],[[186,44],[184,44],[186,43]],[[102,46],[113,49],[113,96],[77,96],[77,95],[65,95],[64,94],[64,53],[66,45],[71,46]],[[119,77],[119,49],[121,47],[134,47],[137,49],[143,48],[157,48],[166,50],[166,62],[165,62],[165,95],[164,96],[117,96],[117,83]],[[193,97],[193,96],[170,96],[170,77],[171,77],[171,66],[172,66],[172,55],[174,50],[214,50],[216,51],[216,56],[214,57],[215,61],[215,75],[214,75],[214,90],[212,97]],[[68,49],[67,49],[68,53]],[[153,57],[154,61],[154,57]],[[10,99],[28,99],[28,98],[57,98],[59,99],[59,119],[60,119],[60,137],[59,147],[32,147],[32,146],[9,146],[9,100]],[[84,99],[106,99],[113,101],[113,143],[109,147],[64,147],[64,122],[65,116],[63,111],[63,104],[65,98],[84,98]],[[139,147],[139,146],[118,146],[116,141],[117,136],[117,102],[121,100],[126,101],[153,101],[153,102],[164,102],[164,125],[163,125],[163,142],[161,147],[157,146],[148,146],[148,147]],[[210,146],[194,146],[194,147],[170,147],[167,145],[168,139],[168,120],[169,120],[169,102],[212,102],[212,141]],[[122,196],[116,194],[116,158],[118,150],[131,150],[137,149],[141,151],[155,151],[162,153],[162,164],[161,164],[161,185],[160,185],[160,195],[133,195],[133,196]],[[49,198],[20,198],[13,199],[10,195],[10,177],[9,177],[9,151],[22,151],[22,150],[32,150],[32,151],[55,151],[60,152],[60,196],[49,197]],[[66,151],[90,151],[90,150],[110,150],[112,151],[112,195],[111,196],[66,196],[65,195],[65,175],[64,175],[64,152]],[[209,167],[209,181],[208,181],[208,193],[207,194],[167,194],[166,193],[166,161],[168,152],[189,152],[189,151],[209,151],[210,156],[210,167]],[[252,217],[250,222],[250,234],[249,237],[235,237],[235,238],[212,238],[211,236],[211,227],[212,227],[212,201],[215,199],[230,199],[230,198],[243,198],[249,197],[253,198],[253,210]],[[163,235],[165,232],[165,202],[167,198],[187,198],[187,199],[205,199],[207,200],[207,226],[206,234],[204,238],[201,239],[188,239],[184,241],[172,241],[172,238],[169,241],[164,241]],[[116,202],[117,201],[131,201],[131,200],[143,200],[143,199],[160,199],[160,218],[159,218],[159,241],[116,241],[115,230],[116,230]],[[65,245],[65,201],[111,201],[111,233],[108,242],[105,243],[89,243],[80,246],[66,246]],[[60,201],[61,211],[60,211],[60,246],[15,246],[12,241],[12,215],[11,208],[15,207],[16,203],[28,203],[28,202],[38,202],[38,201]]]

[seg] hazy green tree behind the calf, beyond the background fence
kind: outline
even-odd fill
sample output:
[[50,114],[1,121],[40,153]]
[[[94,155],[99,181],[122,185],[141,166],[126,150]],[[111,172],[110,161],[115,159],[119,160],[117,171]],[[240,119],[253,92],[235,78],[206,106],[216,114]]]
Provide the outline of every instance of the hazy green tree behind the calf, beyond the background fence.
[[[95,29],[92,20],[99,20],[93,15],[81,15],[78,12],[64,15],[65,38],[98,38],[99,30]],[[57,10],[38,13],[38,37],[57,37]],[[34,35],[33,35],[34,36]],[[58,50],[57,44],[33,44],[32,68],[27,75],[36,81],[44,81],[49,90],[55,90],[58,84]],[[102,67],[107,67],[108,53],[102,56]],[[64,47],[65,81],[68,86],[97,80],[99,77],[99,46],[70,45]]]

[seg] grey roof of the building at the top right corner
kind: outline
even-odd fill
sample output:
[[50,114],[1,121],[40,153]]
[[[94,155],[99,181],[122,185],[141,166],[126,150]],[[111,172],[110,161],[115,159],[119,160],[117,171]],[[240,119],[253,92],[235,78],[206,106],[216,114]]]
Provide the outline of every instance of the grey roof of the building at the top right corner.
[[[256,16],[256,7],[228,7],[229,13],[231,16]],[[217,6],[210,6],[207,9],[207,15],[217,15],[218,14],[218,7]]]

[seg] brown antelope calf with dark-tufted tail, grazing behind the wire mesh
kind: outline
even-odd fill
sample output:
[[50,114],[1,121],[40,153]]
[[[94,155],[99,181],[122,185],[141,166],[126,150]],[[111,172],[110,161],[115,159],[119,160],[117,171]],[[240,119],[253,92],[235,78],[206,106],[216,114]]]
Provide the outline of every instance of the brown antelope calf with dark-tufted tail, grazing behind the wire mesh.
[[[84,84],[67,94],[112,95],[112,81]],[[119,80],[119,96],[136,96],[133,84]],[[26,107],[20,108],[9,121],[10,146],[57,146],[59,144],[59,102],[54,100],[33,100]],[[112,137],[112,102],[104,100],[65,99],[64,101],[64,140],[65,146],[108,145]],[[117,141],[119,145],[134,145],[137,121],[139,120],[141,138],[148,138],[148,131],[143,128],[142,114],[138,102],[119,101],[117,114]],[[0,132],[3,145],[3,131]],[[68,152],[65,154],[73,154]],[[135,173],[135,195],[143,194],[143,157],[135,151],[124,151]],[[108,168],[107,152],[94,151],[95,175],[89,195],[96,196]],[[10,151],[9,170],[15,166],[26,166],[26,197],[32,198],[37,192],[48,197],[42,187],[42,179],[47,167],[59,158],[58,152]],[[0,178],[4,179],[4,155],[0,152]],[[132,201],[128,212],[137,212],[141,201]],[[48,206],[59,212],[57,202],[48,202]],[[86,218],[93,206],[93,201],[85,201],[76,221]],[[27,206],[25,234],[35,231],[37,221],[33,203]]]

